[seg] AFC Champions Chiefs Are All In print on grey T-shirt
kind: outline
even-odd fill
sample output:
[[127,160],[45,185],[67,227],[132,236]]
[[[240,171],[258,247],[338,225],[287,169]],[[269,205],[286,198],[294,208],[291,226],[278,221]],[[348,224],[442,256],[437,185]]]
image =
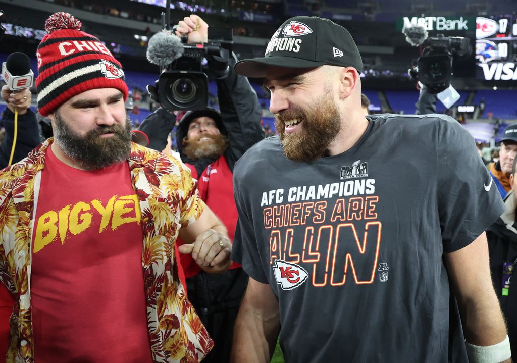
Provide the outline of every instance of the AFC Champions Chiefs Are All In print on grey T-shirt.
[[[359,163],[360,160],[358,165],[349,167],[348,171],[344,167],[341,178],[368,176],[367,162]],[[352,273],[357,284],[373,282],[382,230],[381,221],[376,220],[375,208],[379,198],[371,195],[374,192],[375,179],[351,179],[340,183],[263,192],[261,207],[264,229],[270,231],[269,263],[274,266],[276,279],[282,289],[291,290],[305,282],[307,271],[296,265],[300,261],[325,261],[325,274],[315,274],[315,271],[311,274],[310,283],[313,286],[343,285],[347,271]],[[351,198],[347,198],[351,195]],[[336,199],[336,196],[341,198]],[[330,199],[332,205],[329,205],[327,199]],[[272,205],[273,202],[275,205]],[[362,220],[366,221],[364,231],[358,231],[354,222]],[[305,231],[295,236],[292,227],[299,225],[306,225]],[[355,240],[356,247],[350,246],[343,251],[345,259],[338,258],[337,246],[331,246],[339,244],[340,240],[349,239]],[[300,241],[301,253],[299,248],[293,249],[293,240]],[[371,273],[358,274],[356,268],[359,268],[359,264],[364,272]],[[313,266],[316,268],[317,265]],[[379,280],[386,281],[389,267],[387,263],[383,263],[382,267],[379,269],[382,270]],[[318,281],[318,275],[323,279]]]

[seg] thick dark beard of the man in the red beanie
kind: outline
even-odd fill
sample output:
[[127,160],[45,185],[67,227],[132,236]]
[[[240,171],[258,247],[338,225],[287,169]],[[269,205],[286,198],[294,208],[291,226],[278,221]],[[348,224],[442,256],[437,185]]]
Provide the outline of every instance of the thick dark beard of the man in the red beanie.
[[[54,141],[69,158],[81,162],[87,169],[102,169],[128,159],[131,152],[131,121],[128,116],[124,126],[98,126],[84,136],[70,128],[68,123],[71,122],[55,112]],[[100,137],[109,132],[113,132],[112,137]]]

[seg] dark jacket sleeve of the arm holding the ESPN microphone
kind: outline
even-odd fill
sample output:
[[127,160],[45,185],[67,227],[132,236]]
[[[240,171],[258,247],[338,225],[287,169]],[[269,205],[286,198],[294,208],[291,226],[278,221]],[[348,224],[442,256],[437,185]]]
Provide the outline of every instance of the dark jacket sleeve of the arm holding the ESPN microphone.
[[[9,163],[14,135],[14,113],[11,110],[5,109],[0,126],[3,126],[6,131],[5,140],[0,144],[0,169],[4,169]],[[39,144],[41,144],[41,138],[38,120],[34,112],[29,109],[25,114],[18,115],[18,133],[12,163],[25,158]]]

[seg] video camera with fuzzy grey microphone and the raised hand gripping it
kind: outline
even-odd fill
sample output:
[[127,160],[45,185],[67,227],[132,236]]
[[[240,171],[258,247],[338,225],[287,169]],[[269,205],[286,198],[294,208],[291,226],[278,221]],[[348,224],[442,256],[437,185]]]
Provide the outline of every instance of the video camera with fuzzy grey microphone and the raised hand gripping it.
[[208,105],[208,81],[223,79],[232,54],[231,28],[210,27],[192,14],[181,20],[174,34],[164,29],[149,39],[147,59],[162,69],[150,97],[166,110],[204,110]]

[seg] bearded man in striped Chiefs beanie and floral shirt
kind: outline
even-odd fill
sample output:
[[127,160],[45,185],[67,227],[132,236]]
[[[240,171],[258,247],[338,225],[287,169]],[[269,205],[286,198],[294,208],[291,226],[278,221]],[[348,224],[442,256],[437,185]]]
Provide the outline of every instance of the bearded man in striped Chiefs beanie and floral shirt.
[[213,342],[174,245],[222,272],[226,229],[185,165],[131,142],[121,65],[80,27],[47,20],[36,86],[54,138],[0,173],[7,361],[199,362]]

